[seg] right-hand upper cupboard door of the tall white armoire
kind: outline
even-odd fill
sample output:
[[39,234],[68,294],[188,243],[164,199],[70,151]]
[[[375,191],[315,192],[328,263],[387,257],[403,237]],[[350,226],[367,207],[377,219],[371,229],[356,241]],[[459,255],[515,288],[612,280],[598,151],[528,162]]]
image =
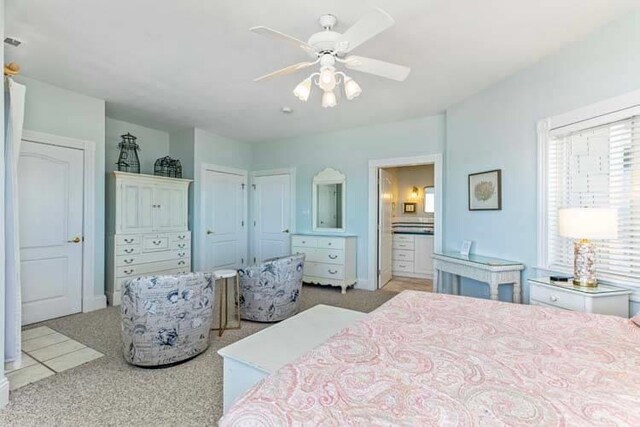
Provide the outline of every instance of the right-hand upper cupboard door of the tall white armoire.
[[182,231],[187,228],[187,189],[157,185],[153,192],[154,231]]

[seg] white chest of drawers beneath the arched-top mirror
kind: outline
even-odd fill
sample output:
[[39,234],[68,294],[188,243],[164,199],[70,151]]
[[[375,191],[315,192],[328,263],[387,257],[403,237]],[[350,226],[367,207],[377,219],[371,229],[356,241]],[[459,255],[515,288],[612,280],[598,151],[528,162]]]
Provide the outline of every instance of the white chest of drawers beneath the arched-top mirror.
[[342,293],[356,278],[356,237],[294,234],[291,252],[305,254],[303,281],[339,286]]

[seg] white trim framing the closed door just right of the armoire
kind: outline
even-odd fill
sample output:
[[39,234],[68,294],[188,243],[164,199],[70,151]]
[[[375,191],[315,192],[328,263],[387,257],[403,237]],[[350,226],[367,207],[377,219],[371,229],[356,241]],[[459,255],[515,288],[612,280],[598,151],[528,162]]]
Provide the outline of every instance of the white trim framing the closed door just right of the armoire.
[[[243,237],[244,237],[244,245],[243,245],[243,252],[244,252],[244,259],[245,259],[245,263],[248,262],[249,260],[249,254],[248,254],[248,245],[249,245],[249,234],[248,234],[248,229],[249,229],[249,221],[248,221],[248,214],[249,214],[249,205],[248,205],[248,201],[249,198],[247,197],[247,195],[249,194],[249,185],[247,183],[248,178],[249,178],[249,171],[245,170],[245,169],[237,169],[237,168],[232,168],[229,166],[222,166],[222,165],[215,165],[213,163],[200,163],[200,168],[197,170],[198,176],[195,180],[195,185],[197,186],[197,189],[194,188],[194,194],[197,194],[197,197],[199,197],[199,203],[200,203],[200,208],[197,209],[196,214],[198,215],[198,217],[194,220],[194,224],[196,225],[196,227],[194,227],[193,230],[193,234],[195,234],[195,239],[196,239],[196,247],[198,248],[198,254],[195,257],[195,259],[197,260],[197,265],[196,265],[196,270],[202,270],[203,266],[206,265],[206,248],[205,248],[205,239],[202,237],[202,230],[204,230],[206,228],[206,225],[204,224],[204,219],[205,219],[205,206],[204,206],[204,199],[205,199],[205,195],[204,195],[204,186],[202,185],[202,177],[204,176],[204,172],[205,171],[211,171],[211,172],[220,172],[220,173],[226,173],[226,174],[231,174],[231,175],[239,175],[242,176],[244,178],[244,184],[245,184],[245,191],[244,191],[244,207],[242,209],[242,220],[244,221],[244,233],[243,233]],[[197,191],[197,193],[196,193]]]

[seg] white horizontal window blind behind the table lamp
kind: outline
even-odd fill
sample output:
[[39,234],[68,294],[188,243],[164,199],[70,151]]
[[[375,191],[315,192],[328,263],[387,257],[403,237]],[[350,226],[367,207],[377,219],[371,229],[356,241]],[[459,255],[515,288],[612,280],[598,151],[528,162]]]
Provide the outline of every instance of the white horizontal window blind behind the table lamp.
[[612,207],[618,239],[595,242],[598,277],[640,282],[640,116],[554,131],[547,156],[549,268],[573,269],[573,241],[558,235],[558,209]]

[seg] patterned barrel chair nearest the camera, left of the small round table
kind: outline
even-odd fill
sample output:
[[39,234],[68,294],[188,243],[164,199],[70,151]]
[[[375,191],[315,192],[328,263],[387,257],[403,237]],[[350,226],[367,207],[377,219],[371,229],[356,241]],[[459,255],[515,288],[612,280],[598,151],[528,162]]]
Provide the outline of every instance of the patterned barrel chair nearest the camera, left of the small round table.
[[139,277],[122,286],[124,358],[158,367],[197,356],[209,346],[213,278],[208,273]]

